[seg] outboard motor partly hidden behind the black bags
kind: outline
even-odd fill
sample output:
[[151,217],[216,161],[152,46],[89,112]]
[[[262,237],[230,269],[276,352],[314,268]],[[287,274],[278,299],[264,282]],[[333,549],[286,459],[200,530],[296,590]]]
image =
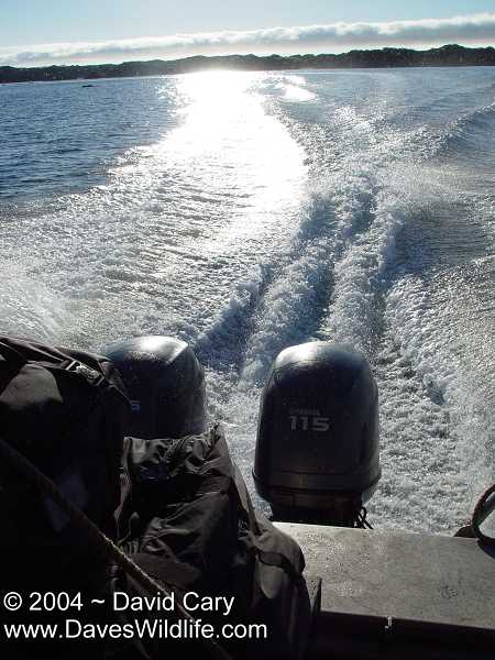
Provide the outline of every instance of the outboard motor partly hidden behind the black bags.
[[205,430],[204,370],[185,341],[138,337],[103,353],[119,370],[131,399],[128,436],[182,438]]

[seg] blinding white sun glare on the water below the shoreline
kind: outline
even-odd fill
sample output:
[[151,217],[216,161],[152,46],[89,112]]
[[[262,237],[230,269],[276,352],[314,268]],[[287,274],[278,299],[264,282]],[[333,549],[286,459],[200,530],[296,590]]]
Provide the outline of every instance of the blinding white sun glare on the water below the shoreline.
[[180,196],[194,212],[209,205],[209,223],[219,218],[213,252],[222,242],[233,246],[241,237],[268,231],[297,206],[305,180],[302,150],[265,109],[265,78],[208,72],[174,79],[183,123],[156,145],[158,168],[188,183]]

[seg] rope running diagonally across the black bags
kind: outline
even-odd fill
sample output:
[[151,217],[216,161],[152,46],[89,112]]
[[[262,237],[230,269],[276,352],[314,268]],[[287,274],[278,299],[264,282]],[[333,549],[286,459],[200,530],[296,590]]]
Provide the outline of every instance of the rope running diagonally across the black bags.
[[[8,444],[2,438],[0,438],[0,455],[14,465],[29,482],[58,504],[58,506],[67,513],[75,527],[78,527],[87,536],[95,549],[103,552],[109,559],[118,563],[150,594],[158,593],[163,597],[170,597],[170,593],[161,583],[156,582],[145,573],[130,557],[124,554],[84,512],[74,506],[51,479],[13,447]],[[178,602],[176,603],[176,607],[185,619],[191,623],[195,622],[195,618]],[[215,660],[232,660],[231,656],[213,639],[201,637],[199,641],[205,647],[205,650],[211,653],[211,657]]]

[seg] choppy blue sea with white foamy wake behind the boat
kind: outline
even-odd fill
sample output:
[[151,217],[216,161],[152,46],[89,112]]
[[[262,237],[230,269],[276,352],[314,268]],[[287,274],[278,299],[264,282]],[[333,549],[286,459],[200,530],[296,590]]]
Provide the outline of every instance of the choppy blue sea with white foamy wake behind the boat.
[[84,85],[0,86],[0,332],[187,340],[252,492],[272,360],[350,342],[370,519],[455,530],[495,479],[495,68]]

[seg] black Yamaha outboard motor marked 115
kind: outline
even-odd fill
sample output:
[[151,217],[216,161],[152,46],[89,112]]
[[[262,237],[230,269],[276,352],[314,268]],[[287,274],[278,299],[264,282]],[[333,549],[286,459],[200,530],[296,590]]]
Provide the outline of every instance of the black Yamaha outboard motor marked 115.
[[275,519],[366,525],[362,507],[381,468],[378,394],[362,353],[310,342],[278,354],[262,393],[253,476]]

